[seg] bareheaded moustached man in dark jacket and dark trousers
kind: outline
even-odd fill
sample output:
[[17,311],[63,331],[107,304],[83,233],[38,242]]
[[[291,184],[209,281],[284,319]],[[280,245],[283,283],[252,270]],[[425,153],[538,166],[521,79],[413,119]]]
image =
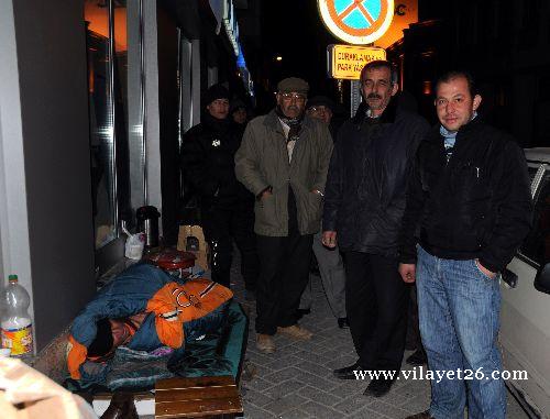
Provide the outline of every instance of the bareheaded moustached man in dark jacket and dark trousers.
[[[334,371],[400,370],[407,329],[408,288],[397,272],[398,235],[409,162],[429,126],[397,108],[397,74],[388,62],[361,71],[365,110],[342,125],[326,187],[323,244],[344,254],[345,307],[355,364]],[[394,378],[395,379],[395,378]],[[394,379],[373,379],[365,394],[386,394]]]

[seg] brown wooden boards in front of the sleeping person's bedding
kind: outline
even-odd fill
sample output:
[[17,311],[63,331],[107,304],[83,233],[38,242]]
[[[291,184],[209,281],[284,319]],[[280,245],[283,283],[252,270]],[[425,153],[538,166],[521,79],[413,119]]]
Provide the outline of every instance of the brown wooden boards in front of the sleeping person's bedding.
[[155,386],[155,419],[234,418],[242,411],[232,376],[168,378]]

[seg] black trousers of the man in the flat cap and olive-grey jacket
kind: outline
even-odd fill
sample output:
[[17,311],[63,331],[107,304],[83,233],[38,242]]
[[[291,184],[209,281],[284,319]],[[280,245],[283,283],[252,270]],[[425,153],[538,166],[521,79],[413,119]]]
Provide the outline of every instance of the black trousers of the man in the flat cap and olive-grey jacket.
[[277,326],[296,324],[296,310],[309,280],[314,235],[257,235],[261,269],[256,287],[256,332],[275,334]]

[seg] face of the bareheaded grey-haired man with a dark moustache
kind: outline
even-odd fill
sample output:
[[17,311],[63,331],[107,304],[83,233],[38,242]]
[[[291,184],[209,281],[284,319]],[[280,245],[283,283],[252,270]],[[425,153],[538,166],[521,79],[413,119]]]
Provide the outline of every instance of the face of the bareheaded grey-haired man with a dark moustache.
[[361,80],[361,89],[371,112],[378,117],[386,109],[389,99],[397,92],[397,85],[392,84],[389,68],[380,67],[365,71]]

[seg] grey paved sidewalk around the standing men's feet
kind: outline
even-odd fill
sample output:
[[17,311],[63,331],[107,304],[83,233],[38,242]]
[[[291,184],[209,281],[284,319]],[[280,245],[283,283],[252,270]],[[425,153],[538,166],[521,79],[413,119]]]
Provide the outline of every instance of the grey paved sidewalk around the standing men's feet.
[[[307,342],[296,342],[276,335],[277,351],[274,354],[256,351],[255,304],[244,300],[240,262],[237,258],[231,272],[231,287],[237,300],[250,313],[249,345],[241,377],[245,419],[403,419],[428,408],[428,381],[402,378],[386,396],[374,398],[363,395],[367,381],[341,381],[332,376],[333,368],[352,364],[356,356],[350,332],[338,328],[317,276],[312,276],[315,301],[311,313],[300,321],[315,333],[314,338]],[[406,356],[410,353],[407,352]],[[413,367],[404,363],[403,368]],[[528,418],[509,394],[507,418]]]

